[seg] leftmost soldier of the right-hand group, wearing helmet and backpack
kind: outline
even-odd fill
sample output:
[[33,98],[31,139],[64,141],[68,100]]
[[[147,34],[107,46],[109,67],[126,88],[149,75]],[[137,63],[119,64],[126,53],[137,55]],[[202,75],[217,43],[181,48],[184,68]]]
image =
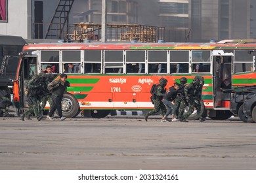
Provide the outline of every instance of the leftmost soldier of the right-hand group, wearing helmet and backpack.
[[160,84],[158,84],[158,86],[156,88],[156,94],[154,95],[154,98],[152,99],[154,102],[154,109],[150,110],[149,112],[146,112],[146,114],[144,115],[144,119],[146,122],[148,121],[148,116],[154,115],[154,114],[158,113],[160,110],[161,110],[162,116],[164,116],[166,113],[166,107],[163,104],[163,101],[161,101],[161,100],[163,99],[163,95],[166,92],[165,86],[168,81],[165,78],[161,78],[159,80],[159,82],[160,82]]

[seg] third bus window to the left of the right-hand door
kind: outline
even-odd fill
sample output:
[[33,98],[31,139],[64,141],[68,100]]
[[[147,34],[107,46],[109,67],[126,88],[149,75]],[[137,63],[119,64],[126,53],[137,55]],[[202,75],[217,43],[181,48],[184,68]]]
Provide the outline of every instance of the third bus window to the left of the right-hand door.
[[148,51],[148,73],[167,73],[167,51]]

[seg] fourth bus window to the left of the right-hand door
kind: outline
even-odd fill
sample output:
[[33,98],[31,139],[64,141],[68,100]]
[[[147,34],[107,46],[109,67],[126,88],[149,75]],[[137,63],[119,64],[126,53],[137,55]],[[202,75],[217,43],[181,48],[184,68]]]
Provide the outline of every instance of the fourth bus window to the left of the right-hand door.
[[126,73],[145,73],[145,51],[126,51]]

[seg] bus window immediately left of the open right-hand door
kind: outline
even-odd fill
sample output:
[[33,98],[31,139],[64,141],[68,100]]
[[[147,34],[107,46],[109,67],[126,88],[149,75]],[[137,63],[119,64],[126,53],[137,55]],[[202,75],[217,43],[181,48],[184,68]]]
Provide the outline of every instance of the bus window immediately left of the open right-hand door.
[[209,50],[192,51],[192,73],[210,73],[210,54]]

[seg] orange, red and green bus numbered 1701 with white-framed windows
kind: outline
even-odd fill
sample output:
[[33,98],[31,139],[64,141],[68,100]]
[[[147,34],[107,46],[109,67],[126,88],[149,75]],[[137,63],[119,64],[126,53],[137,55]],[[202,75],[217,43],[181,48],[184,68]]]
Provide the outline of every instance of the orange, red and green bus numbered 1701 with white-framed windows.
[[32,75],[51,65],[57,78],[72,63],[77,73],[67,73],[70,87],[62,101],[67,117],[81,110],[95,118],[111,110],[150,110],[150,88],[160,78],[168,80],[169,88],[181,77],[192,82],[199,75],[204,78],[203,109],[209,118],[224,120],[232,113],[230,93],[223,91],[256,83],[255,50],[255,40],[30,44],[24,46],[18,65],[14,103],[19,110],[28,107],[25,90]]

